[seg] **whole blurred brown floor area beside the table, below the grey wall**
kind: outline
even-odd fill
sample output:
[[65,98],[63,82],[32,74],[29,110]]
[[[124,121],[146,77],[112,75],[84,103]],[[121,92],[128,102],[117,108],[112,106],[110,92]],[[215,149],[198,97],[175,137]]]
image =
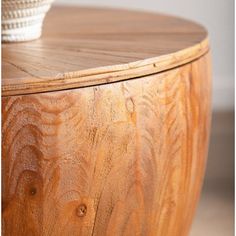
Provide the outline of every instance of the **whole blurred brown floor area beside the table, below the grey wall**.
[[234,235],[234,112],[214,112],[204,188],[190,236]]

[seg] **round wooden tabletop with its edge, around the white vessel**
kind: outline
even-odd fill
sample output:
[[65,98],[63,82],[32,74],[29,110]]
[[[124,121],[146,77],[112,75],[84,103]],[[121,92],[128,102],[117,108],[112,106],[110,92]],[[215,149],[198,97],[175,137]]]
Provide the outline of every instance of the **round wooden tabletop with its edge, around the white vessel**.
[[2,96],[133,79],[181,66],[209,50],[191,21],[127,10],[53,7],[40,39],[2,44]]

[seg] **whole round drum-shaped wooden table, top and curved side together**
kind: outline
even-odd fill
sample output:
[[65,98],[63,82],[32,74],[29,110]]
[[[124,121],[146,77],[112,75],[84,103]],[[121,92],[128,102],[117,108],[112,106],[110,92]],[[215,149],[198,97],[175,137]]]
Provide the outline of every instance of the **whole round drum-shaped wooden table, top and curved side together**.
[[211,118],[202,26],[54,7],[2,55],[4,236],[188,234]]

